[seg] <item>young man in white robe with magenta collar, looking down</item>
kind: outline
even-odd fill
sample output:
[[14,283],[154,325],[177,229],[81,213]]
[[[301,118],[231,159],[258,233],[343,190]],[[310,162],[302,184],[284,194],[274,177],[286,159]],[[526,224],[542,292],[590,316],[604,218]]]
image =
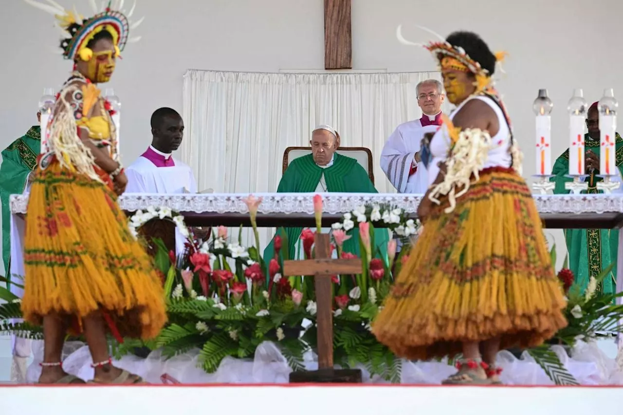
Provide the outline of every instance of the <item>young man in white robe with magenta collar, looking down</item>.
[[[184,137],[184,121],[176,110],[159,108],[151,115],[151,145],[125,169],[125,193],[197,193],[193,169],[173,157]],[[199,235],[197,235],[199,236]],[[184,252],[186,238],[176,230],[176,251]]]

